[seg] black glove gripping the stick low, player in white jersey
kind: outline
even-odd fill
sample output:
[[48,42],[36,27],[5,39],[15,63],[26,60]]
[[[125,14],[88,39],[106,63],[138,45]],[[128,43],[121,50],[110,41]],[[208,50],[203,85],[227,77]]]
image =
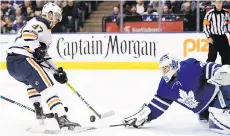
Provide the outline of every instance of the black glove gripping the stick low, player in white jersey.
[[67,75],[62,67],[59,67],[53,76],[55,80],[61,84],[65,84],[68,81]]

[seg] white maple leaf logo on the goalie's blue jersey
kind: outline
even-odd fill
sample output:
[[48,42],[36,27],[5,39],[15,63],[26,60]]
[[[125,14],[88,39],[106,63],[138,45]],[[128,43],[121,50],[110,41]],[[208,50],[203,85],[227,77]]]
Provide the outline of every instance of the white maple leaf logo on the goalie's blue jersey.
[[193,91],[189,91],[188,94],[184,91],[184,90],[180,90],[180,97],[181,98],[178,98],[177,100],[181,103],[183,103],[184,105],[186,105],[187,107],[191,108],[191,109],[194,109],[198,106],[198,103],[196,100],[195,100],[195,96],[194,96],[194,93]]

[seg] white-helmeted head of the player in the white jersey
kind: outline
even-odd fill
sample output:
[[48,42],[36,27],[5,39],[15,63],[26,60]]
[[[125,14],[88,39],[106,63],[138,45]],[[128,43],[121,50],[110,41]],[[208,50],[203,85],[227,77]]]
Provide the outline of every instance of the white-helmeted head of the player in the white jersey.
[[[49,14],[52,14],[52,19],[49,18]],[[54,3],[46,3],[42,8],[42,16],[51,22],[51,27],[55,26],[57,22],[62,20],[62,9]]]

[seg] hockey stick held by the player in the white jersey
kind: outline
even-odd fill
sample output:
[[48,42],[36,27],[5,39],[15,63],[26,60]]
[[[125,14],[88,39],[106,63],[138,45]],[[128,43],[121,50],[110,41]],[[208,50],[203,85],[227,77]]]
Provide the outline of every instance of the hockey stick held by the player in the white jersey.
[[[43,59],[44,62],[46,62],[46,64],[50,67],[51,70],[53,70],[54,72],[56,72],[55,68],[53,68],[53,66],[46,60]],[[67,86],[74,92],[77,94],[77,96],[85,103],[85,105],[91,110],[93,111],[100,119],[109,117],[109,116],[113,116],[115,113],[114,111],[108,111],[106,113],[103,114],[99,114],[87,101],[85,101],[85,99],[73,88],[73,86],[70,85],[69,82],[66,83]]]

